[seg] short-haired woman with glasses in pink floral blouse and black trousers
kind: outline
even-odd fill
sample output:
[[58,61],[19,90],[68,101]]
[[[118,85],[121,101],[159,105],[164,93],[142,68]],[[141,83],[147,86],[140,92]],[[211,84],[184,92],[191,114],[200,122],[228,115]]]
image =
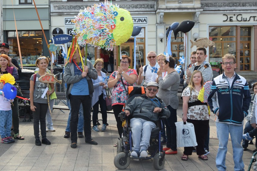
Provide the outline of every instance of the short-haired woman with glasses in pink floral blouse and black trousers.
[[[115,119],[117,121],[117,128],[119,132],[119,137],[122,135],[122,121],[118,114],[122,111],[123,105],[128,100],[128,95],[125,89],[128,89],[128,86],[135,86],[135,82],[138,79],[138,74],[136,70],[129,69],[128,66],[131,62],[131,59],[127,55],[122,55],[122,59],[120,61],[120,67],[118,67],[117,71],[114,71],[109,77],[108,87],[112,88],[112,107]],[[125,87],[122,85],[122,81]],[[116,145],[114,145],[116,147]]]

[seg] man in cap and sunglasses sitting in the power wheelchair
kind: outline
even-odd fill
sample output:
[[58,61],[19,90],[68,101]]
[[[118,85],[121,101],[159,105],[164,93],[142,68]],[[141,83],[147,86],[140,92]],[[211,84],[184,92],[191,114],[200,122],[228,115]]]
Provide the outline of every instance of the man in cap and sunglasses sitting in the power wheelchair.
[[170,111],[166,104],[156,96],[159,85],[149,82],[146,85],[146,93],[134,98],[126,105],[124,112],[132,115],[130,127],[132,129],[133,157],[147,157],[147,149],[150,146],[150,135],[156,127],[159,115],[170,117]]

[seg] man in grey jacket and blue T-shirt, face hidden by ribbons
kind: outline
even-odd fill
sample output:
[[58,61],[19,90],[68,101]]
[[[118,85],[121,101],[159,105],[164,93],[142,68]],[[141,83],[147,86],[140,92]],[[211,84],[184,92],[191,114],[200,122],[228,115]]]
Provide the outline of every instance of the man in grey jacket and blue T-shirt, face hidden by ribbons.
[[[97,71],[92,63],[87,60],[85,65],[81,62],[79,47],[75,48],[75,53],[72,56],[71,62],[64,68],[63,79],[67,83],[66,98],[71,102],[71,148],[77,147],[77,128],[79,107],[82,104],[84,115],[84,134],[85,142],[92,145],[97,145],[91,137],[91,99],[94,92],[92,79],[97,79]],[[82,68],[83,67],[83,68]],[[84,69],[84,71],[83,71]]]

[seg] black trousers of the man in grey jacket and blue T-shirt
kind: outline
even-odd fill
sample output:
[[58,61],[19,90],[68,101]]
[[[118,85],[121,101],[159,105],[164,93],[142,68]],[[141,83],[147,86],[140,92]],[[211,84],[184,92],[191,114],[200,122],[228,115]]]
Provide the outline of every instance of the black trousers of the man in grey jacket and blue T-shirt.
[[69,95],[71,101],[71,143],[77,143],[78,113],[80,104],[83,107],[85,141],[91,139],[91,98],[89,95]]

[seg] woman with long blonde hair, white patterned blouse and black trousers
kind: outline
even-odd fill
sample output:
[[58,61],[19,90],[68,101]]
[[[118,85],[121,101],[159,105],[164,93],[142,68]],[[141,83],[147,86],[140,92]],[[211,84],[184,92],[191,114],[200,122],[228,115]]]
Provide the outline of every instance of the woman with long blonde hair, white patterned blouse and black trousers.
[[[208,133],[209,112],[207,103],[201,103],[198,100],[199,92],[204,84],[200,71],[195,70],[192,73],[189,85],[182,92],[183,98],[183,122],[193,123],[196,136],[196,154],[202,160],[208,160],[205,156],[204,141]],[[181,160],[188,160],[188,156],[192,155],[193,147],[184,147],[184,153]]]

